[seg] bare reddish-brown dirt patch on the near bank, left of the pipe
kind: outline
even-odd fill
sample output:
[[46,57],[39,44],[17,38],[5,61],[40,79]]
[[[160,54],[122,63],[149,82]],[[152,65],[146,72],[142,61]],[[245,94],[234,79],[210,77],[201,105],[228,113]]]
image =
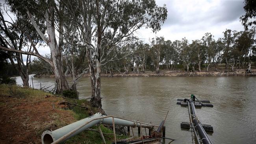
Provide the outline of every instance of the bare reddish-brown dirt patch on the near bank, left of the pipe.
[[38,102],[0,95],[0,144],[41,144],[46,129],[75,122],[72,111],[58,109],[54,97]]

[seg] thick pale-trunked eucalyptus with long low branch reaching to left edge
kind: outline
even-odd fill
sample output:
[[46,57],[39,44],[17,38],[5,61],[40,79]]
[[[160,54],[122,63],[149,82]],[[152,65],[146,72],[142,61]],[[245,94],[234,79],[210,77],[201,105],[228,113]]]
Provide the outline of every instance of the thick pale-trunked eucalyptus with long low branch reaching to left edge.
[[[61,20],[61,15],[64,8],[62,1],[55,3],[54,0],[7,0],[7,4],[10,6],[12,13],[19,13],[19,15],[21,15],[23,18],[28,17],[30,19],[31,24],[34,27],[33,30],[37,31],[37,35],[40,36],[41,41],[45,42],[45,44],[50,48],[52,61],[39,54],[36,44],[32,41],[32,39],[30,39],[30,33],[26,33],[26,31],[26,36],[29,37],[29,41],[30,44],[32,44],[34,52],[15,50],[13,48],[0,48],[20,54],[34,55],[43,59],[49,63],[54,70],[57,84],[56,92],[61,93],[63,90],[69,89],[69,85],[63,72],[62,64],[63,21]],[[56,26],[58,26],[58,28],[56,28]],[[22,30],[20,27],[19,29]],[[59,31],[58,42],[56,39],[56,29]],[[48,37],[45,35],[46,31]]]

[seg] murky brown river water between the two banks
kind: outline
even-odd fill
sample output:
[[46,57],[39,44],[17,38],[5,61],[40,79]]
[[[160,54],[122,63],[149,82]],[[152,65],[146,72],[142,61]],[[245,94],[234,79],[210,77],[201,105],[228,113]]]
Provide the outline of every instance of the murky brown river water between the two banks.
[[[54,85],[54,78],[33,78],[35,88],[40,83]],[[90,79],[81,78],[77,89],[80,99],[89,97]],[[159,125],[169,111],[166,137],[176,139],[171,144],[195,144],[193,131],[180,128],[180,122],[189,122],[188,108],[176,104],[177,98],[195,94],[214,105],[197,108],[200,122],[213,126],[209,138],[214,144],[256,143],[256,77],[102,78],[101,93],[108,115]]]

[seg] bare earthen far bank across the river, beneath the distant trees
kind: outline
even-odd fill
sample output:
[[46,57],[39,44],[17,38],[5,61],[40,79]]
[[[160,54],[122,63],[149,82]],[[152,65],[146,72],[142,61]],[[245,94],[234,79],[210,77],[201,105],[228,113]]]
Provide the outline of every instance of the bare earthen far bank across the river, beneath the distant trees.
[[[89,74],[84,74],[83,77],[89,77]],[[246,69],[237,69],[234,72],[230,70],[220,70],[219,72],[215,72],[214,70],[209,70],[209,72],[201,71],[201,72],[186,72],[183,70],[160,70],[159,74],[156,74],[154,71],[145,71],[139,72],[129,72],[128,74],[124,73],[113,73],[106,74],[102,73],[101,77],[164,77],[164,76],[256,76],[256,70],[251,70],[250,73],[246,73]],[[54,75],[35,75],[34,77],[41,78],[54,78]],[[71,77],[68,75],[67,77]]]

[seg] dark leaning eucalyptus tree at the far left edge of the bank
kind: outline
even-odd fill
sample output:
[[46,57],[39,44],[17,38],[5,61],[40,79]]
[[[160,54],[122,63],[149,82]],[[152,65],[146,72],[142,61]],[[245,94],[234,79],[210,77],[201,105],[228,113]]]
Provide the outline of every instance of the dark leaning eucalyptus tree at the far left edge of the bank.
[[[12,9],[4,7],[3,12],[0,9],[0,48],[7,51],[8,58],[11,64],[19,71],[20,77],[24,87],[29,87],[29,64],[31,62],[31,53],[36,51],[33,48],[37,45],[41,39],[38,37],[35,30],[30,25],[30,21],[27,17],[21,15],[18,11],[13,11],[13,18],[9,17],[10,20],[6,20],[3,16],[5,14],[9,16]],[[19,53],[19,51],[25,51],[26,56]],[[35,52],[37,53],[37,51]],[[15,64],[17,61],[17,65]]]

